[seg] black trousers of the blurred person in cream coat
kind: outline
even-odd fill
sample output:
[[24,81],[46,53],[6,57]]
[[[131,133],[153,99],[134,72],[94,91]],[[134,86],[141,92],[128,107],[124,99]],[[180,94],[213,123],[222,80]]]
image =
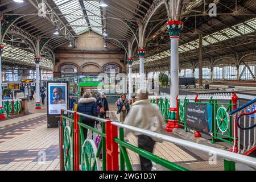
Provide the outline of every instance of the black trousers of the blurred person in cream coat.
[[[146,150],[148,152],[153,152],[155,141],[152,140],[151,137],[148,137],[146,135],[139,135],[138,136],[138,144],[139,148],[142,148],[143,150]],[[151,160],[144,158],[143,156],[139,156],[139,160],[141,161],[141,170],[142,171],[151,171],[152,168],[152,162]]]

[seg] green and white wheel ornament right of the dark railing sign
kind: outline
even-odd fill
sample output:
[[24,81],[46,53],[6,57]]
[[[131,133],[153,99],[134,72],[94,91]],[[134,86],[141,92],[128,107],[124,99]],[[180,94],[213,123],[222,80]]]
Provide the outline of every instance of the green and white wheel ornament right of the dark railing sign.
[[216,115],[218,129],[220,129],[222,133],[225,133],[229,127],[229,113],[226,111],[225,107],[221,106],[218,108]]

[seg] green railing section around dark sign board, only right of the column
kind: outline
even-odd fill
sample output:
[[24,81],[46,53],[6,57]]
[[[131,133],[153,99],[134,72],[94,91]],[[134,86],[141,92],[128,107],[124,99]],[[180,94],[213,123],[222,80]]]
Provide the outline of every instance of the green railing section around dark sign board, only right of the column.
[[[187,126],[187,105],[189,103],[196,103],[198,105],[210,105],[212,106],[212,130],[210,136],[212,137],[212,143],[216,140],[221,140],[233,144],[233,119],[228,113],[232,111],[237,104],[232,100],[232,94],[200,94],[189,96],[178,96],[177,102],[179,107],[177,112],[179,113],[178,125],[184,127],[185,131],[188,131]],[[196,130],[196,129],[194,129]]]

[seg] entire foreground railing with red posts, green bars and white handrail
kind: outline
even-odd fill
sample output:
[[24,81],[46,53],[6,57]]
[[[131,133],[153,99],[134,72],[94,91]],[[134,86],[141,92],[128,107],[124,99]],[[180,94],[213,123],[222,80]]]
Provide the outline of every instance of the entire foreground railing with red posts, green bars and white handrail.
[[[212,102],[211,102],[212,103]],[[214,104],[214,102],[212,103]],[[65,113],[67,112],[67,113]],[[100,121],[102,130],[85,125],[81,117],[87,117]],[[88,129],[101,136],[100,143],[96,147],[93,139],[84,138],[83,128]],[[111,122],[106,119],[92,117],[90,115],[76,113],[75,111],[62,110],[60,121],[60,155],[61,170],[63,171],[133,171],[131,160],[127,150],[133,151],[138,155],[151,160],[169,170],[188,171],[178,164],[160,158],[151,152],[134,146],[125,141],[124,130],[129,130],[148,137],[154,137],[166,142],[172,142],[179,146],[193,148],[203,152],[214,152],[217,156],[224,159],[225,170],[235,170],[236,162],[244,163],[256,167],[256,159],[247,156],[234,154],[229,151],[220,150],[202,144],[188,142],[187,140],[170,137],[164,134],[154,133],[149,130],[139,129],[119,122]],[[118,134],[119,133],[119,134]],[[102,150],[102,162],[99,159]]]

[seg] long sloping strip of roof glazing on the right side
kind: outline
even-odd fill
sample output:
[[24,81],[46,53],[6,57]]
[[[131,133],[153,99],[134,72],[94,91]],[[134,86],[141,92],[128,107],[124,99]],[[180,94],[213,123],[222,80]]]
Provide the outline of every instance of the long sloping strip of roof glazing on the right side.
[[[221,42],[224,40],[236,38],[238,36],[243,36],[246,34],[250,34],[255,32],[256,27],[256,18],[247,20],[244,23],[236,24],[230,28],[225,28],[224,30],[214,32],[211,35],[207,35],[203,37],[203,46],[209,46],[210,44],[214,44],[217,42]],[[192,42],[185,43],[179,46],[179,53],[192,51],[193,49],[199,48],[199,39],[193,40]],[[147,57],[144,59],[145,63],[150,61],[156,61],[163,59],[164,57],[170,56],[170,50],[160,52],[154,56]],[[139,61],[135,61],[134,65],[139,64]]]

